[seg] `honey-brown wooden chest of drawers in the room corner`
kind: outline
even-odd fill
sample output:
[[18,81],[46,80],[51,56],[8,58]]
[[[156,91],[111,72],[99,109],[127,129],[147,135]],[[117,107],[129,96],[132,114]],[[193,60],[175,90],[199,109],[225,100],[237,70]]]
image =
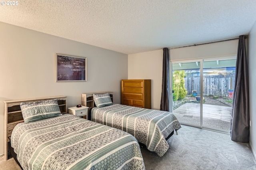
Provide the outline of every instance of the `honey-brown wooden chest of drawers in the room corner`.
[[151,80],[122,80],[122,104],[151,109]]

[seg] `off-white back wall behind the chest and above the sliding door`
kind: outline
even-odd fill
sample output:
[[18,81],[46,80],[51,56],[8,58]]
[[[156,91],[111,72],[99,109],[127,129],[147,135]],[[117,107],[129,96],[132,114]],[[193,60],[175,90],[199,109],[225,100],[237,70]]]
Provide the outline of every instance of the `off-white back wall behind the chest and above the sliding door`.
[[[238,40],[170,49],[170,60],[234,56]],[[152,109],[160,109],[163,50],[128,55],[128,79],[151,79]]]

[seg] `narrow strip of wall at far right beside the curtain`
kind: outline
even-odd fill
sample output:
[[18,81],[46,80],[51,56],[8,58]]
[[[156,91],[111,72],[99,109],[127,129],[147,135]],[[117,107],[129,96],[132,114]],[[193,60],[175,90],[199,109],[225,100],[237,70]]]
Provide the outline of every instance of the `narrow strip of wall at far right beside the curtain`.
[[[248,67],[249,67],[249,92],[250,92],[250,146],[254,157],[256,158],[256,22],[252,27],[249,36],[248,36]],[[255,124],[254,124],[255,123]]]

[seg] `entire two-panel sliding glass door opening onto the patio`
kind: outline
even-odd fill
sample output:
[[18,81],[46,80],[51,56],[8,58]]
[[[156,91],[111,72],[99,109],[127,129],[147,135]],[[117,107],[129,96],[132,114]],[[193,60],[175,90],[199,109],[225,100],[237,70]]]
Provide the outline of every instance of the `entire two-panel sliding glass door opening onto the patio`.
[[235,57],[172,62],[170,106],[181,124],[229,133],[235,66]]

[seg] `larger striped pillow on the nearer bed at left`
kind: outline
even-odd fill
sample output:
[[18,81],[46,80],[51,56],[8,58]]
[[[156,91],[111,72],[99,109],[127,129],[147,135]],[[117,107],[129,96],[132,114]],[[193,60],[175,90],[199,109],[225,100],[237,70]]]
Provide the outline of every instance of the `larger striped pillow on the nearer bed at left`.
[[22,102],[20,109],[24,122],[29,123],[62,115],[57,101],[54,99],[33,103]]

